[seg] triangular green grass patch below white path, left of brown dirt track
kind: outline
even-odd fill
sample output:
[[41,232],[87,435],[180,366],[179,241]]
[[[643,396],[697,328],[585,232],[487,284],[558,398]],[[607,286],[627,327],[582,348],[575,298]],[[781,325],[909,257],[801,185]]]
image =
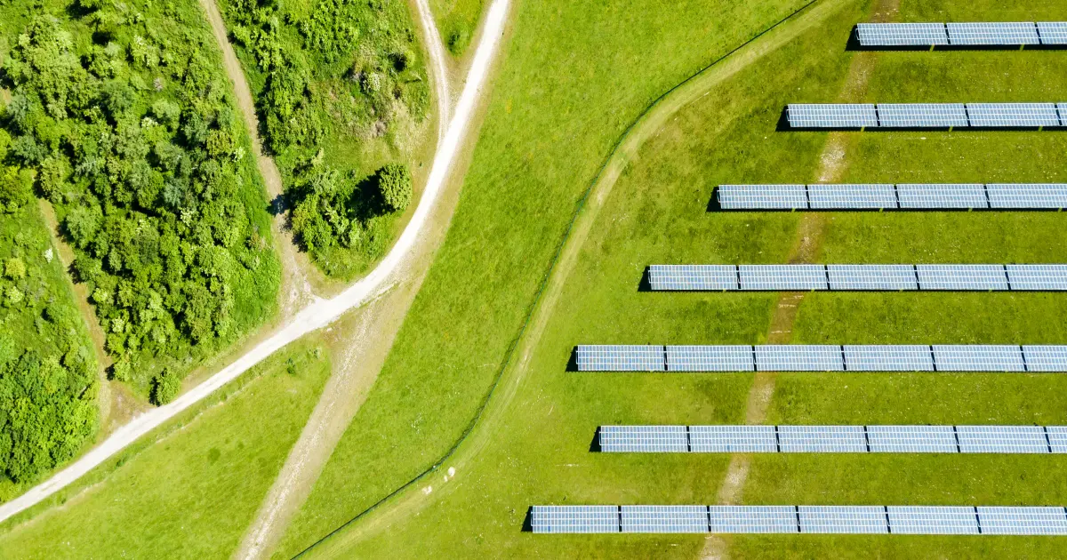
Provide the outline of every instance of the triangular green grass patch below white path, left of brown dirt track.
[[[226,387],[109,475],[0,534],[2,558],[223,558],[237,547],[330,375],[315,338]],[[158,432],[155,437],[159,437]],[[153,439],[155,441],[155,439]],[[92,475],[90,475],[92,477]]]

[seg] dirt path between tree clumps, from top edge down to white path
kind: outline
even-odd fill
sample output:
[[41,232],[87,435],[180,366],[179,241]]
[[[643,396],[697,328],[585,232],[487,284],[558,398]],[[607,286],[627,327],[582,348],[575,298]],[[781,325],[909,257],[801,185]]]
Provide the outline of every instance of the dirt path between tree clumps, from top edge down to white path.
[[[318,272],[307,255],[297,250],[292,242],[292,234],[285,223],[285,207],[283,205],[282,175],[274,165],[274,160],[262,151],[262,144],[259,141],[259,117],[256,115],[256,103],[252,99],[252,90],[244,78],[244,70],[240,61],[234,52],[234,47],[227,38],[226,26],[222,20],[222,14],[213,0],[200,0],[201,6],[207,15],[208,22],[211,23],[211,34],[214,42],[222,50],[222,65],[226,70],[226,76],[234,86],[234,96],[237,99],[237,107],[244,117],[244,128],[252,139],[252,153],[256,158],[256,165],[259,167],[259,175],[264,178],[264,186],[267,188],[267,197],[271,202],[274,213],[274,247],[282,261],[282,286],[280,289],[280,316],[281,321],[291,319],[297,311],[307,304],[315,302],[318,298],[312,290],[308,275],[321,274]],[[319,279],[321,283],[322,281]]]

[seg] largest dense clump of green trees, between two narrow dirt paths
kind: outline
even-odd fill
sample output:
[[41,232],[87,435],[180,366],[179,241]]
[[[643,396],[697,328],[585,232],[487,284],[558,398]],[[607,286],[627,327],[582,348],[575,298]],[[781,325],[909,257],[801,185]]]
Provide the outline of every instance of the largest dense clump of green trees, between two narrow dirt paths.
[[[80,7],[77,20],[35,17],[4,63],[0,204],[25,201],[28,186],[52,203],[113,375],[146,387],[142,357],[232,339],[262,319],[242,309],[273,301],[276,261],[249,213],[266,201],[213,46],[161,33],[137,5]],[[198,17],[166,10],[178,25]]]

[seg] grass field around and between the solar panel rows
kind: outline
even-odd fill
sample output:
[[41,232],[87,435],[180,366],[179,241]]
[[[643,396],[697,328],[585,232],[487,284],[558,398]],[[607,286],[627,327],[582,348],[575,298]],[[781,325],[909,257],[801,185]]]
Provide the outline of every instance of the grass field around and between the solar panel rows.
[[[905,1],[896,18],[1056,18],[1056,6],[1048,4],[1024,13],[985,1],[917,4]],[[785,261],[799,242],[802,214],[707,212],[707,201],[721,182],[814,181],[828,134],[776,132],[775,125],[787,102],[839,100],[856,57],[871,59],[863,99],[856,100],[1054,100],[1067,89],[1067,77],[1057,69],[1067,60],[1063,52],[844,51],[851,26],[872,11],[870,4],[850,2],[825,25],[680,112],[646,145],[601,210],[529,374],[505,421],[491,432],[492,443],[455,481],[445,484],[441,475],[420,481],[420,489],[435,489],[425,509],[344,554],[692,558],[706,553],[705,538],[699,535],[521,532],[527,507],[537,503],[716,502],[728,457],[601,455],[589,452],[594,430],[608,423],[739,423],[745,418],[751,375],[568,373],[573,346],[766,340],[774,294],[641,293],[638,281],[654,262]],[[514,42],[528,17],[520,15]],[[577,33],[573,27],[569,32]],[[500,82],[498,95],[507,83]],[[497,117],[491,110],[487,132]],[[1067,178],[1062,171],[1067,137],[1057,132],[846,137],[842,181]],[[472,178],[478,164],[476,155]],[[529,169],[530,175],[541,172],[536,164]],[[468,179],[467,186],[477,183]],[[468,202],[469,192],[464,195]],[[1067,262],[1062,236],[1067,218],[1058,213],[842,212],[823,218],[817,261]],[[508,284],[494,288],[515,290]],[[482,297],[500,304],[494,293]],[[1067,298],[1055,294],[813,293],[800,306],[793,341],[1064,343],[1067,331],[1060,317],[1065,310]],[[485,313],[480,317],[485,320]],[[472,330],[452,331],[485,343]],[[402,347],[391,359],[401,352]],[[439,354],[445,363],[462,364],[449,356]],[[1064,423],[1065,383],[1060,375],[1033,374],[780,374],[766,421]],[[414,384],[405,388],[416,390]],[[356,464],[361,461],[349,460],[348,471],[356,471]],[[790,505],[1060,505],[1067,502],[1065,470],[1067,461],[1048,457],[754,455],[740,498]],[[1047,538],[733,537],[724,542],[734,558],[1035,558],[1056,556],[1058,549],[1057,541]]]

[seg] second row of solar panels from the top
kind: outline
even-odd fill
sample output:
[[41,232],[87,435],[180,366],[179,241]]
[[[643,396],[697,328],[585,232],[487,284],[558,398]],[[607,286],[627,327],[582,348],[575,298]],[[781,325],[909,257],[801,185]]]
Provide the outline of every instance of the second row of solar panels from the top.
[[791,103],[791,128],[1056,128],[1058,103]]

